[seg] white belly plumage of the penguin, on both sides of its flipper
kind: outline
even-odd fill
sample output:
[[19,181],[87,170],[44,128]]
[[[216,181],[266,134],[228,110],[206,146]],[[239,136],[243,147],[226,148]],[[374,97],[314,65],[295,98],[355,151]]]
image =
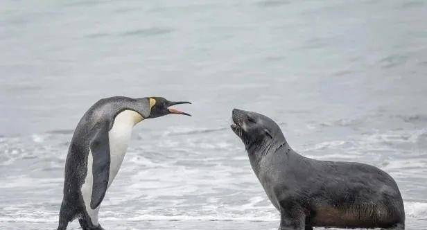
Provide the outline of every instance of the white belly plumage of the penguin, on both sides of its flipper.
[[[126,150],[128,149],[130,137],[132,136],[132,127],[142,120],[143,117],[132,110],[125,110],[120,114],[117,114],[116,118],[114,118],[113,127],[108,132],[108,139],[110,143],[110,175],[108,177],[107,188],[110,187],[114,177],[116,177],[117,172],[119,172]],[[92,209],[90,207],[93,187],[92,163],[93,155],[89,148],[89,156],[87,157],[87,175],[85,183],[82,184],[81,192],[87,214],[89,215],[92,224],[94,224],[94,226],[98,226],[98,211],[101,205],[96,207],[96,209]]]

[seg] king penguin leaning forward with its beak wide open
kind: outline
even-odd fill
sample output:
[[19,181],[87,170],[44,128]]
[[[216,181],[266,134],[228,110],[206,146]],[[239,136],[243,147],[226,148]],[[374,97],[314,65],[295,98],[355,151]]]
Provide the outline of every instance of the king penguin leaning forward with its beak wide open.
[[183,114],[165,98],[116,96],[98,100],[80,119],[67,154],[58,230],[79,218],[84,230],[101,230],[98,211],[128,148],[132,127],[147,118]]

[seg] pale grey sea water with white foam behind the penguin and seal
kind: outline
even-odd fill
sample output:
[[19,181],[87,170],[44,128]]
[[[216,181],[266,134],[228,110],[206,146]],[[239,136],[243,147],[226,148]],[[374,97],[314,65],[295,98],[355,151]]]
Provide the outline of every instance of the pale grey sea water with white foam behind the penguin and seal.
[[427,229],[426,21],[425,1],[3,0],[0,229],[57,227],[73,129],[117,95],[193,116],[134,128],[105,229],[277,229],[234,107],[306,157],[390,173],[407,229]]

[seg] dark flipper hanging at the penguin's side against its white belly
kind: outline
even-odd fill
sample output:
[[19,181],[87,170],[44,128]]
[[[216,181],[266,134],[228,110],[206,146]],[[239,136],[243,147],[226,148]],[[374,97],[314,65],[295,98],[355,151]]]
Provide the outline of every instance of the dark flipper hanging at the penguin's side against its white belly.
[[[101,124],[98,124],[101,125]],[[93,156],[92,174],[92,198],[91,209],[101,204],[107,192],[108,178],[110,176],[110,141],[108,139],[108,125],[103,124],[97,127],[96,133],[92,136],[89,148]]]

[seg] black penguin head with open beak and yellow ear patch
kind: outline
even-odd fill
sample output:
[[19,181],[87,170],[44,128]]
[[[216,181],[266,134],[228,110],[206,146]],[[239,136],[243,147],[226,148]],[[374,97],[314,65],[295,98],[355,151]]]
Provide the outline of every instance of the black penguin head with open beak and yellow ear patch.
[[188,101],[169,101],[161,97],[150,97],[150,116],[148,118],[156,118],[159,116],[165,116],[168,114],[182,114],[186,116],[191,116],[185,112],[181,112],[178,109],[175,109],[171,106],[180,105],[180,104],[191,104]]

